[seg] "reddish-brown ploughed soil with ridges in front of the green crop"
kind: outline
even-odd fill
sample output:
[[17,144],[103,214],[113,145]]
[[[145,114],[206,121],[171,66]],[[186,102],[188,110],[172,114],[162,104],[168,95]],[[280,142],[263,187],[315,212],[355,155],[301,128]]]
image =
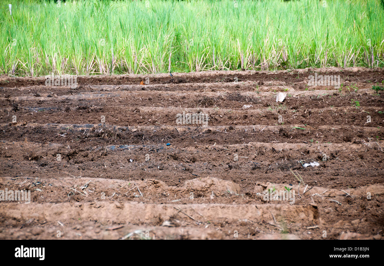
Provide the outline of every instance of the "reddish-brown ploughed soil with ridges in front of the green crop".
[[0,239],[384,238],[383,73],[1,76]]

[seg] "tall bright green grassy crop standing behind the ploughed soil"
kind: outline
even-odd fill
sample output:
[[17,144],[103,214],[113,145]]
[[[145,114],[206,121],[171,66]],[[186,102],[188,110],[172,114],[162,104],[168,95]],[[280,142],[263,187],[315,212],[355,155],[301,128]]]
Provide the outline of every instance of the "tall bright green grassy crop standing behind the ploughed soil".
[[9,0],[0,23],[15,76],[384,66],[378,0]]

